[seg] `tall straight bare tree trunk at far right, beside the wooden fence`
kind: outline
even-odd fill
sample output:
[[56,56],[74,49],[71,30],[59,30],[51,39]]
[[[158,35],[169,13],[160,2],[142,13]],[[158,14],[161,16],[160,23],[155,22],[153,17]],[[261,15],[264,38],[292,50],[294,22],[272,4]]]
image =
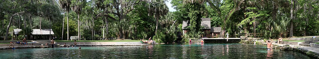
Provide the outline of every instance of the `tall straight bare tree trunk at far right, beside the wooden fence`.
[[293,37],[293,0],[291,0],[291,8],[290,8],[290,33],[289,37]]

